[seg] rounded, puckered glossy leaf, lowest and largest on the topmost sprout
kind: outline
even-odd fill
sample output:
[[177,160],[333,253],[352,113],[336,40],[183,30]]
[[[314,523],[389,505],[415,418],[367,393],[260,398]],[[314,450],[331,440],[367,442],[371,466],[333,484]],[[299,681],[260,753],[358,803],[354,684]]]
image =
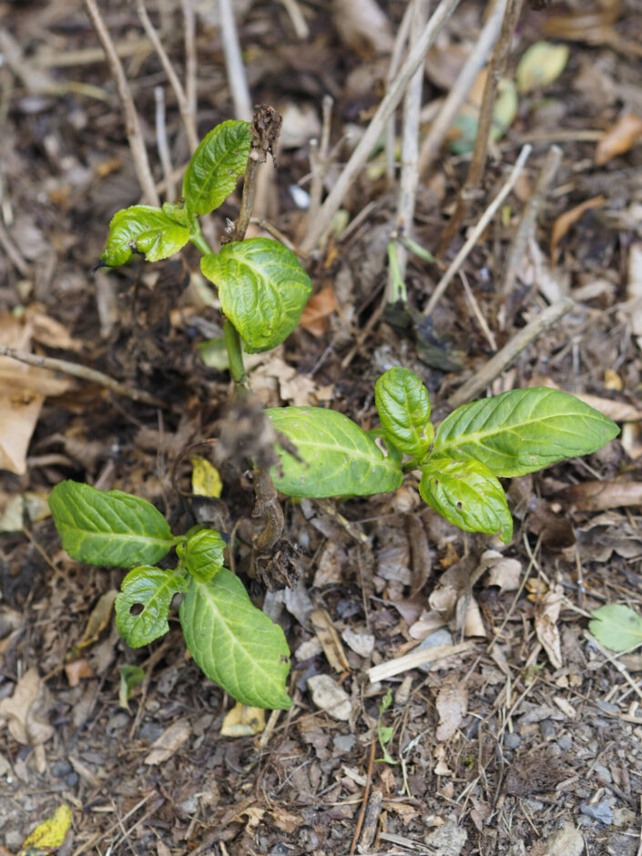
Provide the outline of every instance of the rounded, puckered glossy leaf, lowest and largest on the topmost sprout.
[[312,283],[295,254],[270,238],[225,244],[200,261],[246,351],[275,348],[299,323]]

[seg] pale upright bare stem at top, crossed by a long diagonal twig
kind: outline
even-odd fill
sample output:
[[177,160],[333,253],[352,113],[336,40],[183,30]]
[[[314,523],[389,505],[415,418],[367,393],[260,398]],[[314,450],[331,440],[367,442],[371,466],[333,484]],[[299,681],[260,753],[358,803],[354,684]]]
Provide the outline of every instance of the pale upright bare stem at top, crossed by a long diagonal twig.
[[[410,48],[416,44],[428,16],[426,0],[414,0],[410,30]],[[397,199],[397,232],[413,233],[414,203],[417,194],[417,169],[419,164],[419,114],[422,108],[423,63],[413,74],[403,97],[402,128],[402,172],[399,178],[399,196]],[[403,280],[408,264],[408,250],[403,244],[397,245],[399,276]],[[394,302],[396,294],[392,270],[388,270],[388,301]]]

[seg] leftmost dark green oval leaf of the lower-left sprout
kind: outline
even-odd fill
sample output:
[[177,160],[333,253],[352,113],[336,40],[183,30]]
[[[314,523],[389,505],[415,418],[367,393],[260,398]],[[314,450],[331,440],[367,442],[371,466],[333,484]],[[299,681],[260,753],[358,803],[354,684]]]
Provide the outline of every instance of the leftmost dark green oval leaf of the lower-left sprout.
[[49,508],[66,552],[78,562],[134,567],[158,562],[176,539],[168,522],[145,499],[89,484],[60,482]]

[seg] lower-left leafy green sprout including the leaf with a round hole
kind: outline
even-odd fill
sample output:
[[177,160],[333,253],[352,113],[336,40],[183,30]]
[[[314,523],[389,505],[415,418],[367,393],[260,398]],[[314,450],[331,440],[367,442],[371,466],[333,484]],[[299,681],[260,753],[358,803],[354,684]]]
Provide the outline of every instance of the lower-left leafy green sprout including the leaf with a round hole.
[[[172,535],[146,500],[72,481],[56,484],[49,507],[72,558],[130,569],[116,598],[116,626],[128,646],[164,636],[172,598],[181,594],[183,636],[207,677],[245,705],[290,708],[288,643],[223,566],[225,543],[218,532],[195,527]],[[155,566],[172,548],[177,565]]]

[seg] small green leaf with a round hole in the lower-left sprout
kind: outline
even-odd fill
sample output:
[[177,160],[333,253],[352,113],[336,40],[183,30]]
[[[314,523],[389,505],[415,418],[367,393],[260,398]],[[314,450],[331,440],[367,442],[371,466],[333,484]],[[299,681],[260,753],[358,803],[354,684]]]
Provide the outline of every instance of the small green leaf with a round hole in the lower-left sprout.
[[171,599],[187,587],[182,568],[164,571],[144,565],[129,571],[115,605],[116,627],[127,645],[139,648],[165,636]]

